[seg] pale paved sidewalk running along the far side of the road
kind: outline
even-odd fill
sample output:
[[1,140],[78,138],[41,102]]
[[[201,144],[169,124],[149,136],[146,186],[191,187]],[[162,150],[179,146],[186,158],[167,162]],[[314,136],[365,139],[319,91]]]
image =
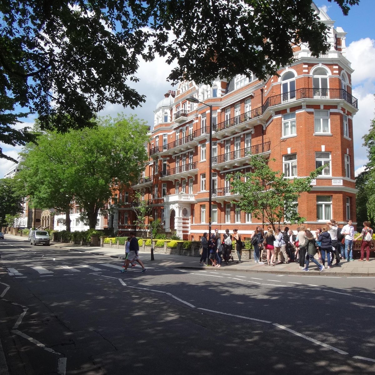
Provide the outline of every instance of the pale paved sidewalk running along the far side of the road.
[[[25,237],[18,237],[6,234],[8,239],[17,239],[27,242]],[[111,258],[117,258],[124,260],[125,249],[118,248],[101,248],[99,246],[81,246],[72,243],[61,243],[51,242],[51,246],[59,249],[66,249],[71,251],[81,251],[90,254],[104,255]],[[158,266],[174,267],[174,268],[186,268],[186,269],[208,269],[209,266],[199,266],[198,257],[186,257],[183,255],[171,255],[171,254],[158,254],[154,252],[154,261],[151,261],[150,252],[139,251],[139,256],[145,267],[151,266],[151,264],[157,264]],[[334,261],[335,263],[335,261]],[[213,267],[211,267],[213,269]],[[319,275],[317,266],[310,262],[308,275],[314,276]],[[299,269],[299,264],[276,264],[275,267],[267,266],[266,264],[255,263],[254,260],[246,260],[243,263],[237,264],[236,261],[229,261],[226,265],[222,263],[222,267],[215,268],[218,272],[235,271],[235,272],[267,272],[267,273],[278,273],[288,275],[302,275],[306,274],[305,271]],[[333,266],[332,269],[325,269],[324,275],[335,275],[335,276],[375,276],[375,260],[371,259],[369,262],[359,262],[357,259],[352,262],[341,261],[339,266]]]

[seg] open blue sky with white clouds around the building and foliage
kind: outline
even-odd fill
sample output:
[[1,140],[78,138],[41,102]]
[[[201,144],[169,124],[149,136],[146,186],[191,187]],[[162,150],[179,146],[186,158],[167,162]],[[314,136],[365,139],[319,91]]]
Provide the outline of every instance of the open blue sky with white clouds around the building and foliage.
[[[375,118],[375,1],[360,0],[359,6],[354,6],[348,16],[344,16],[336,3],[328,0],[315,0],[319,8],[323,8],[329,17],[336,21],[335,27],[342,27],[346,35],[346,57],[354,69],[352,74],[352,93],[358,99],[358,113],[353,118],[354,133],[354,169],[356,175],[363,171],[367,163],[367,149],[363,147],[363,135],[368,132],[371,120]],[[171,66],[165,63],[165,58],[157,57],[151,63],[140,62],[138,70],[139,82],[134,87],[139,93],[146,95],[147,99],[142,107],[135,110],[123,108],[120,105],[107,105],[100,116],[123,112],[127,115],[136,114],[148,122],[151,127],[154,123],[154,109],[157,103],[164,98],[168,90],[175,89],[166,81]],[[20,127],[32,126],[32,120]],[[3,152],[17,158],[21,147],[9,147],[1,144]],[[0,178],[12,166],[12,162],[0,159]]]

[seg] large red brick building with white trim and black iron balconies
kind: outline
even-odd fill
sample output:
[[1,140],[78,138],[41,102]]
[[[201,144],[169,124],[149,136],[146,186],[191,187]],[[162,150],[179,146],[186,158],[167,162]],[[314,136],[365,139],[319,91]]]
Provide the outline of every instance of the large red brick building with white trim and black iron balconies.
[[[149,200],[150,213],[163,221],[166,231],[189,240],[208,231],[209,183],[213,229],[223,233],[238,228],[246,238],[262,225],[231,203],[241,196],[231,194],[225,180],[228,173],[249,171],[249,152],[276,159],[269,165],[286,178],[306,177],[326,165],[311,192],[299,198],[300,216],[312,229],[328,219],[356,221],[353,70],[345,58],[344,31],[333,27],[323,11],[320,17],[330,30],[327,54],[315,58],[306,46],[296,46],[296,62],[265,81],[237,76],[217,79],[211,86],[183,82],[158,104],[150,159],[133,189]],[[187,101],[191,96],[212,106],[212,118],[206,105]],[[131,197],[132,191],[118,193],[119,201],[126,202],[118,212],[120,230],[133,228]]]

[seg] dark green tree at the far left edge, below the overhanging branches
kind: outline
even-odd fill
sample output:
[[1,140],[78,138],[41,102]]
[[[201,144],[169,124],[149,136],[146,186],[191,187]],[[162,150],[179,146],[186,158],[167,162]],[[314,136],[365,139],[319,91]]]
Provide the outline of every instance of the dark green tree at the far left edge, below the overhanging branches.
[[7,224],[6,215],[17,215],[23,212],[23,193],[17,188],[13,178],[0,179],[0,225]]

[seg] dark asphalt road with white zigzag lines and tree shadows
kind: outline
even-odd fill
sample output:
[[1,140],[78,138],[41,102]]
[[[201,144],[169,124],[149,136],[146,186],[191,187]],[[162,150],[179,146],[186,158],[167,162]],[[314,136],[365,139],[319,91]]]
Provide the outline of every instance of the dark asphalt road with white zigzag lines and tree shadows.
[[155,266],[0,243],[11,375],[374,374],[375,278]]

